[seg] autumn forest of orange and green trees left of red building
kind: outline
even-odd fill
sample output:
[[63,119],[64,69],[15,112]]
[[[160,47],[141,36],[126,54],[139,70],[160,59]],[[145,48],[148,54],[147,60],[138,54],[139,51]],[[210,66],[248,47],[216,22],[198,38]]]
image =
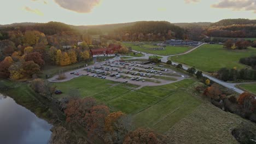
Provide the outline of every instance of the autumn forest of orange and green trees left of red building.
[[94,47],[89,35],[60,22],[0,27],[0,76],[27,79],[39,74],[45,64],[88,61],[89,47]]

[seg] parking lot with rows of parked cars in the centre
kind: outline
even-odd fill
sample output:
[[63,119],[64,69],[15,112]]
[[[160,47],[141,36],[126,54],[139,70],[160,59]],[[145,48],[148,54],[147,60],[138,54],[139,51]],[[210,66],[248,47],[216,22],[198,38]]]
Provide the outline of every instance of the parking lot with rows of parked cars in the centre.
[[58,75],[49,79],[51,82],[63,82],[79,76],[92,76],[95,79],[107,79],[127,82],[139,86],[158,86],[177,82],[188,77],[164,65],[142,64],[142,62],[125,62],[107,60],[88,67],[65,73],[66,79],[57,80]]

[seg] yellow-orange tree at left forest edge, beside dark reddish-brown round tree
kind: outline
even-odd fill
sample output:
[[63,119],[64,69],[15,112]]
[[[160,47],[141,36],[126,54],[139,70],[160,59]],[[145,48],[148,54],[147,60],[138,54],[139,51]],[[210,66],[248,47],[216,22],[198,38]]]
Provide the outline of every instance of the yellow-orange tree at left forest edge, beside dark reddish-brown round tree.
[[10,71],[11,79],[18,80],[24,77],[24,69],[21,62],[11,64],[8,70]]

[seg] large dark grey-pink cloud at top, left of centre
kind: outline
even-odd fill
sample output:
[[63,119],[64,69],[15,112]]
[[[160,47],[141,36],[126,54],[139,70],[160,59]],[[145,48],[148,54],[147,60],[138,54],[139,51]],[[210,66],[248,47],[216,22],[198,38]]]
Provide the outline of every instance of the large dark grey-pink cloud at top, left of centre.
[[60,7],[77,13],[90,13],[102,0],[54,0]]

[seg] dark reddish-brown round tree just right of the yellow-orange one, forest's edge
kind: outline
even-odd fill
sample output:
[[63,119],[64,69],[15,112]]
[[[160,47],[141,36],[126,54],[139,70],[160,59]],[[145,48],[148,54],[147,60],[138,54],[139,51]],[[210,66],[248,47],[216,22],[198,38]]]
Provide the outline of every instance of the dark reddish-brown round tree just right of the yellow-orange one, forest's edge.
[[27,61],[22,63],[22,69],[24,70],[24,75],[32,76],[33,74],[38,74],[40,71],[40,67],[38,64],[33,61]]

